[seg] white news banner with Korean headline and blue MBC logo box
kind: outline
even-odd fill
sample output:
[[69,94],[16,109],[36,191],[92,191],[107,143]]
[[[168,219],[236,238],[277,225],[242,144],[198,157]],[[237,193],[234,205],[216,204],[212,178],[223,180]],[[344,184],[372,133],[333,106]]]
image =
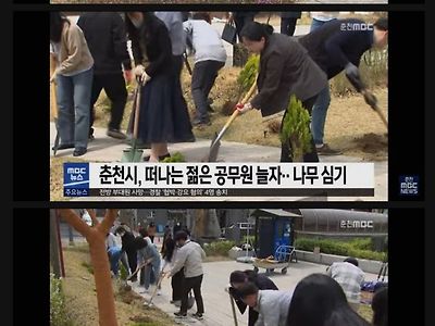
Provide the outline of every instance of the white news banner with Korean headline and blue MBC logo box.
[[64,197],[374,196],[373,163],[64,163]]

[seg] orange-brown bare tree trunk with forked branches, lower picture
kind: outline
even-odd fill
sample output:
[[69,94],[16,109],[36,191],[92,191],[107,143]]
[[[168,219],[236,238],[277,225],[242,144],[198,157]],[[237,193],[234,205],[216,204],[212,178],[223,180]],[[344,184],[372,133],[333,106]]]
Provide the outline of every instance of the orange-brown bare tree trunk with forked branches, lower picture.
[[107,210],[101,223],[98,222],[94,210],[87,211],[92,220],[92,226],[87,225],[74,210],[60,210],[60,213],[89,243],[90,262],[94,266],[97,290],[99,324],[117,326],[109,258],[105,251],[105,236],[117,216],[117,210]]

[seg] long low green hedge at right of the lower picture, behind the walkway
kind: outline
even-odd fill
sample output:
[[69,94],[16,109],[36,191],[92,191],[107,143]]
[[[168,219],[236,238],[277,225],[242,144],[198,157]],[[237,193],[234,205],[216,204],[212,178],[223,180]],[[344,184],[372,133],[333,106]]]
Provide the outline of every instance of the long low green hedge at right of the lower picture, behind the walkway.
[[319,247],[320,252],[322,253],[355,256],[375,261],[384,261],[386,255],[385,252],[372,250],[372,240],[370,238],[359,238],[350,241],[299,238],[295,240],[295,247],[298,250],[304,251],[313,251],[315,247]]

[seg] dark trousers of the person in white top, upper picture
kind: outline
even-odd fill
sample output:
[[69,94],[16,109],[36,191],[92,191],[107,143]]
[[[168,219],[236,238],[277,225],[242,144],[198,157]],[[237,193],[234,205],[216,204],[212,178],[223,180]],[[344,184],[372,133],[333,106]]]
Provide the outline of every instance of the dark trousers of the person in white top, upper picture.
[[210,121],[208,113],[208,98],[217,77],[217,72],[225,62],[207,60],[197,62],[191,74],[191,97],[197,110],[196,118],[207,123]]

